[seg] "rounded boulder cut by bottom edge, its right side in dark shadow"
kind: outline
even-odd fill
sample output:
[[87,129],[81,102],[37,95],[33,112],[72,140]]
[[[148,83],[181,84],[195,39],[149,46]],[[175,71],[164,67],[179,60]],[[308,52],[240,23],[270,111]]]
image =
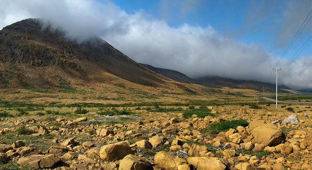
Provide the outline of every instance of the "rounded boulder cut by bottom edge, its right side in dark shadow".
[[153,170],[153,167],[145,158],[129,154],[120,161],[119,170]]

